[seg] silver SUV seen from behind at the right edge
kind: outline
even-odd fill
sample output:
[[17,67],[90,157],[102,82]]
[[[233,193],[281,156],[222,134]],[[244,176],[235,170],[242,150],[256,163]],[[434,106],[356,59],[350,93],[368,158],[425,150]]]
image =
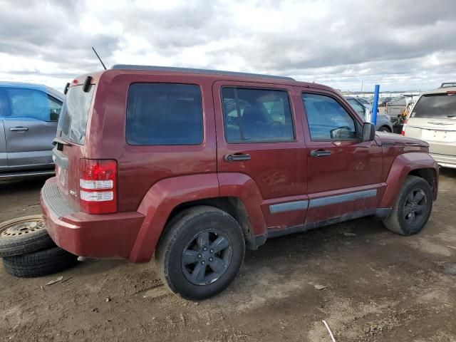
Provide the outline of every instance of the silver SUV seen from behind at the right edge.
[[423,93],[410,110],[402,134],[425,140],[440,166],[456,168],[456,87]]

